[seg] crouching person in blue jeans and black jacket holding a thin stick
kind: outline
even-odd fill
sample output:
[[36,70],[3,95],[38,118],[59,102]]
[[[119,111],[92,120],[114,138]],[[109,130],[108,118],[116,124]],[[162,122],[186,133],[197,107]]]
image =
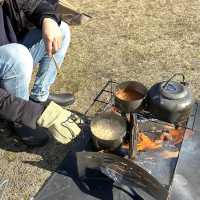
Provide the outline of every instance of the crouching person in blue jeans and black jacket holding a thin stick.
[[[48,0],[0,0],[0,87],[24,100],[66,106],[74,102],[73,94],[49,93],[70,43],[69,26],[61,21],[57,0],[52,2],[55,4]],[[29,93],[36,65],[38,71]],[[44,134],[43,129],[16,124],[13,131]]]

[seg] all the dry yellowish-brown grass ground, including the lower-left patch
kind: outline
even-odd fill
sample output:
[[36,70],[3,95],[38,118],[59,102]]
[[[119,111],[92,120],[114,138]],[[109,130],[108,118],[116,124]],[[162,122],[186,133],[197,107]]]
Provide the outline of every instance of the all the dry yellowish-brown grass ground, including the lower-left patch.
[[[112,78],[138,80],[150,87],[175,72],[186,75],[200,97],[200,1],[69,0],[93,16],[71,27],[71,45],[53,91],[71,91],[73,109],[83,112]],[[66,154],[51,140],[29,149],[0,134],[0,181],[8,180],[3,200],[31,199]],[[0,188],[1,192],[1,188]]]

